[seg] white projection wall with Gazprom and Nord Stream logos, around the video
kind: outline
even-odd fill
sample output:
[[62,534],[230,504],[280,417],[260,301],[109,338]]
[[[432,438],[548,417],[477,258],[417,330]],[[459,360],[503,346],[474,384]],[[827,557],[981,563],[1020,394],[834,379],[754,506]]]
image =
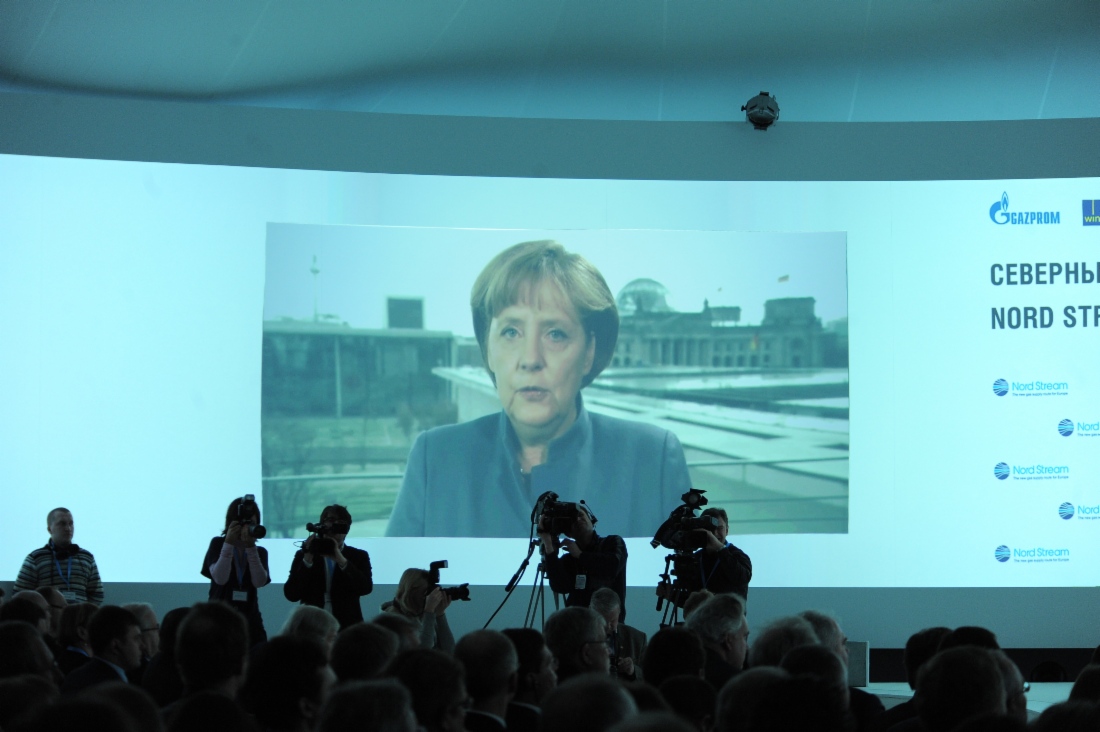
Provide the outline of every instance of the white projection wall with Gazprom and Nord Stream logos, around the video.
[[[848,532],[733,537],[754,587],[1096,586],[1094,199],[1097,178],[564,181],[0,156],[0,579],[65,505],[106,580],[205,581],[226,505],[261,493],[268,225],[301,223],[842,232]],[[522,539],[360,545],[382,583],[446,557],[448,579],[503,584],[525,554]],[[283,576],[292,540],[267,546]],[[629,549],[630,583],[656,583],[664,551]]]

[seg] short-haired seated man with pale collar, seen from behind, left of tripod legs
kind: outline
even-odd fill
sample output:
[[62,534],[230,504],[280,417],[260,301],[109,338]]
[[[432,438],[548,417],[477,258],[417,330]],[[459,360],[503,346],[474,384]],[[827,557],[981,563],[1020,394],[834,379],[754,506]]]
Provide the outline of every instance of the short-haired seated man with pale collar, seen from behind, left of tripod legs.
[[503,732],[507,729],[508,704],[519,685],[519,657],[504,633],[473,631],[454,646],[454,657],[472,674],[466,691],[473,706],[466,711],[469,732]]

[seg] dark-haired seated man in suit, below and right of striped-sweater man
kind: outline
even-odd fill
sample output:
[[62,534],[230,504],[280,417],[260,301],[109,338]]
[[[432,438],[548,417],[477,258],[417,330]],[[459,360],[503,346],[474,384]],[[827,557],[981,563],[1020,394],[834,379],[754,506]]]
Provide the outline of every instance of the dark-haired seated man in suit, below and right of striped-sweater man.
[[62,695],[70,696],[108,681],[129,684],[141,668],[141,624],[118,605],[102,605],[88,622],[91,660],[65,677]]

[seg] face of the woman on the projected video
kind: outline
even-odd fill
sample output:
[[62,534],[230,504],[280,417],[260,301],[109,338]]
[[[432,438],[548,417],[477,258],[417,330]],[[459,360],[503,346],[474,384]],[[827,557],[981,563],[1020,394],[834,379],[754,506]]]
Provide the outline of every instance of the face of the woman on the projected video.
[[488,328],[488,368],[520,439],[563,434],[576,418],[576,394],[596,351],[572,303],[542,280],[521,289]]

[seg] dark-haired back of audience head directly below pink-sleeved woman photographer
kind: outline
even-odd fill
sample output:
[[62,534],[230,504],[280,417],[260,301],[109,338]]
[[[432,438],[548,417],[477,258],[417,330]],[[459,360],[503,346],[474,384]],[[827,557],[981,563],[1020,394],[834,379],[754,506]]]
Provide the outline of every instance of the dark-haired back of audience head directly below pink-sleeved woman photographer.
[[179,623],[176,667],[188,691],[213,688],[244,670],[249,624],[223,602],[199,602]]

